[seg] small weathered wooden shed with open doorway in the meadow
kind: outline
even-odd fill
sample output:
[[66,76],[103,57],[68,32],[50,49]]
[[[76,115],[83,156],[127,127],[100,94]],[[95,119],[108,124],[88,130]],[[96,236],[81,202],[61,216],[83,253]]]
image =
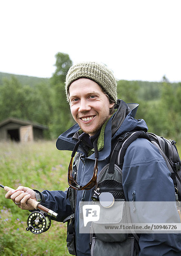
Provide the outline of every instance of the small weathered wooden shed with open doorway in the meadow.
[[0,122],[0,140],[14,140],[20,142],[43,139],[46,125],[40,125],[28,120],[9,117]]

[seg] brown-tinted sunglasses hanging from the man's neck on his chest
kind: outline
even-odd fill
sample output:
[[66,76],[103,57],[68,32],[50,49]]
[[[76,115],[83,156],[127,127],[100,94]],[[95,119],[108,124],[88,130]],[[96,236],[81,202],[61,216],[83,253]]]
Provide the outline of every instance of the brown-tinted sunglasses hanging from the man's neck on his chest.
[[92,178],[89,180],[89,182],[84,185],[84,186],[80,186],[77,181],[73,178],[72,172],[73,172],[73,168],[72,168],[72,163],[73,163],[73,159],[74,157],[71,157],[70,163],[69,163],[69,170],[68,170],[68,183],[69,186],[71,186],[73,189],[76,190],[89,190],[92,189],[96,182],[97,182],[97,175],[98,175],[98,158],[95,158],[95,164],[94,164],[94,171],[93,171],[93,176]]

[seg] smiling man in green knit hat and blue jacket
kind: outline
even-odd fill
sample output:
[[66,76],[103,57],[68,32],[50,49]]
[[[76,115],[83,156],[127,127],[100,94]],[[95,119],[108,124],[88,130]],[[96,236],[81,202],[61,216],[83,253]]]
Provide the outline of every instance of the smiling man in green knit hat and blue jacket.
[[[66,96],[77,124],[61,134],[56,143],[59,150],[73,151],[72,157],[75,151],[79,152],[73,173],[72,163],[69,166],[68,195],[63,191],[45,190],[40,193],[23,186],[6,194],[6,198],[11,198],[18,207],[29,210],[33,207],[26,204],[27,199],[40,198],[41,204],[59,213],[57,221],[70,216],[73,208],[75,236],[72,234],[72,237],[75,240],[68,241],[75,243],[78,256],[99,255],[93,246],[90,252],[89,234],[80,233],[78,203],[92,201],[94,176],[97,169],[99,174],[109,163],[111,148],[117,138],[128,131],[147,131],[144,120],[134,119],[135,111],[131,111],[122,100],[117,101],[116,86],[112,72],[102,64],[83,62],[72,66],[66,76]],[[126,201],[133,200],[133,192],[136,201],[175,201],[170,172],[159,151],[148,140],[138,138],[127,148],[122,177]],[[107,244],[110,248],[118,245],[116,253],[110,250],[110,256],[124,255],[119,247],[121,243],[104,243],[101,255],[107,255],[107,249],[104,251]],[[178,234],[141,234],[139,246],[139,256],[181,255],[181,237]],[[73,253],[73,250],[70,251]]]

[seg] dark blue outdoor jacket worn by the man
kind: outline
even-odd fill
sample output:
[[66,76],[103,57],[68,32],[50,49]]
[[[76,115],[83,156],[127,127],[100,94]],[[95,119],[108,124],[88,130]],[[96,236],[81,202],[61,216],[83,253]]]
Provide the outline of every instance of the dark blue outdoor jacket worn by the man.
[[[109,163],[111,143],[118,135],[127,131],[147,131],[147,124],[143,119],[134,119],[125,102],[121,101],[118,111],[109,119],[104,131],[104,147],[98,154],[98,173]],[[72,151],[76,140],[76,124],[61,134],[57,139],[59,150]],[[80,161],[77,181],[85,185],[91,178],[94,168],[95,155],[87,156],[86,145],[79,145],[78,152],[82,153],[84,163]],[[126,150],[123,165],[123,188],[126,201],[132,201],[135,191],[136,201],[175,201],[175,189],[170,171],[166,163],[152,143],[143,138],[136,139]],[[92,201],[94,189],[77,191],[77,202]],[[70,202],[66,199],[66,192],[43,191],[45,206],[59,213],[57,221],[72,213]],[[78,203],[75,215],[76,249],[78,256],[90,256],[89,234],[79,233]],[[181,235],[178,234],[141,234],[139,256],[179,256],[181,255]]]

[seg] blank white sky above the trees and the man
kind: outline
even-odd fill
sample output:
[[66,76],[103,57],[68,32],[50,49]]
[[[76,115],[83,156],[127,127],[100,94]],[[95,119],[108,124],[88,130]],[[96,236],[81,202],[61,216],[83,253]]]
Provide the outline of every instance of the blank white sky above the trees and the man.
[[181,0],[0,0],[0,72],[51,77],[57,52],[181,81]]

